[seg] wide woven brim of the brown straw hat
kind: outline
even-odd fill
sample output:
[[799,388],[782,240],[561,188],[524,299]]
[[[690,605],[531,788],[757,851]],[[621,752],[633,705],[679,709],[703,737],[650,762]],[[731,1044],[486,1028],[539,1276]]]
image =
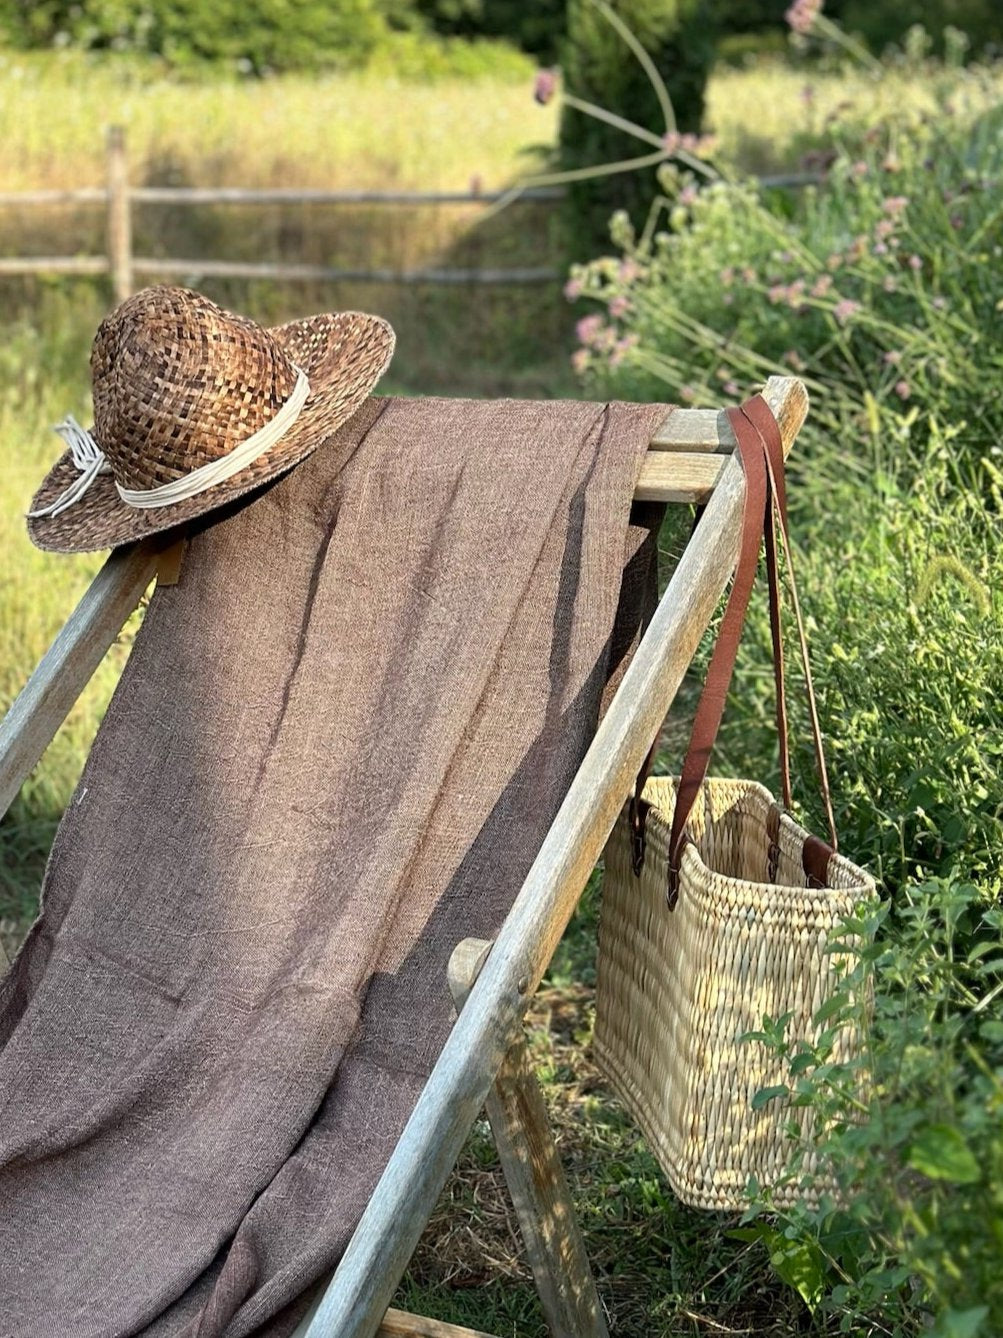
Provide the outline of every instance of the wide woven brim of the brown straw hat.
[[[289,431],[246,470],[173,506],[142,510],[99,474],[84,495],[58,515],[28,516],[32,543],[49,553],[94,553],[186,524],[292,470],[322,446],[364,403],[393,356],[395,334],[378,316],[336,312],[274,326],[270,333],[302,368],[310,393]],[[48,506],[79,476],[70,451],[45,475],[31,511]]]

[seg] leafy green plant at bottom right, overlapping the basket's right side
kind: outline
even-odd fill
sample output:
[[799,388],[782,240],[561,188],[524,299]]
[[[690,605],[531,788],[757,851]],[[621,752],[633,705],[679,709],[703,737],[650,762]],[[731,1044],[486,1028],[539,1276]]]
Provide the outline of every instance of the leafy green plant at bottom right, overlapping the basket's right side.
[[[760,1195],[753,1227],[737,1235],[764,1240],[828,1331],[995,1338],[1003,1022],[991,1004],[1003,993],[1003,913],[970,883],[937,879],[848,929],[855,969],[825,1008],[818,1049],[789,1044],[780,1020],[749,1037],[788,1062],[788,1090],[814,1111],[839,1193],[780,1222]],[[856,930],[872,945],[855,942]],[[855,997],[868,981],[880,987],[865,1048],[833,1064],[829,1041],[859,1017]]]

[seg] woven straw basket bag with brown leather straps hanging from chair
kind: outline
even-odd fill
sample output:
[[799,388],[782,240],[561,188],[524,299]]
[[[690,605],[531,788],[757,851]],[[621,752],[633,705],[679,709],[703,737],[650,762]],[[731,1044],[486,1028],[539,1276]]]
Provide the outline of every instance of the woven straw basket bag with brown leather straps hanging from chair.
[[[682,777],[647,780],[649,755],[606,848],[594,1053],[675,1193],[694,1207],[737,1211],[746,1207],[750,1179],[772,1188],[780,1207],[832,1188],[816,1173],[812,1151],[802,1155],[801,1175],[789,1176],[788,1125],[793,1121],[802,1135],[797,1145],[810,1149],[810,1111],[782,1097],[754,1103],[757,1092],[784,1086],[789,1074],[774,1052],[740,1037],[761,1030],[764,1017],[785,1014],[789,1040],[818,1034],[814,1014],[836,991],[843,966],[826,943],[873,896],[875,884],[836,854],[834,831],[828,844],[786,812],[772,519],[776,512],[786,542],[784,455],[764,400],[729,416],[746,472],[740,561]],[[756,781],[705,779],[764,530],[784,805]],[[789,543],[786,555],[793,579]],[[802,632],[800,611],[797,621]],[[806,652],[804,664],[832,818]],[[844,1029],[832,1061],[848,1060],[857,1045],[859,1036]]]

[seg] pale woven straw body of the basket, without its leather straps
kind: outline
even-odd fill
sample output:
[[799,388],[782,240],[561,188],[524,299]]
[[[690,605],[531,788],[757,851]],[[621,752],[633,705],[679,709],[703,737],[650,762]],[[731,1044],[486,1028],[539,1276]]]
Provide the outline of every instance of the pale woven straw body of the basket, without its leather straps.
[[[786,1206],[809,1191],[778,1184],[797,1121],[810,1139],[810,1112],[785,1100],[752,1109],[761,1088],[788,1074],[758,1042],[764,1016],[792,1013],[788,1036],[812,1038],[812,1017],[834,991],[840,961],[825,953],[830,931],[875,891],[847,859],[829,862],[829,884],[810,890],[801,866],[806,832],[780,822],[780,858],[768,882],[766,820],[773,799],[745,780],[705,781],[687,831],[679,899],[666,904],[667,844],[675,784],[649,780],[647,850],[631,868],[626,811],[606,848],[594,1049],[649,1140],[673,1189],[702,1208],[738,1210],[752,1176]],[[849,1058],[847,1029],[833,1061]],[[801,1171],[816,1172],[806,1153]],[[798,1177],[800,1179],[800,1177]]]

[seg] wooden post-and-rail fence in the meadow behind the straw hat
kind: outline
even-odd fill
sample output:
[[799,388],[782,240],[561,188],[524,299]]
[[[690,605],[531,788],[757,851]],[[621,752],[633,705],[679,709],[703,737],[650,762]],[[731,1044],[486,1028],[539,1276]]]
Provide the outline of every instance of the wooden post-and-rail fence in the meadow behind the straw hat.
[[[516,203],[559,199],[559,190],[527,190]],[[126,132],[112,126],[107,136],[106,185],[80,190],[0,191],[0,207],[53,205],[104,205],[107,210],[106,254],[103,256],[4,256],[0,277],[5,274],[110,274],[115,301],[135,290],[138,274],[151,278],[177,278],[199,274],[213,278],[278,278],[364,281],[373,284],[540,284],[554,282],[560,270],[526,269],[332,269],[325,265],[292,265],[281,262],[245,262],[223,260],[159,260],[136,256],[132,250],[132,207],[138,203],[158,205],[491,205],[499,194],[460,191],[388,191],[388,190],[267,190],[234,186],[130,186]]]

